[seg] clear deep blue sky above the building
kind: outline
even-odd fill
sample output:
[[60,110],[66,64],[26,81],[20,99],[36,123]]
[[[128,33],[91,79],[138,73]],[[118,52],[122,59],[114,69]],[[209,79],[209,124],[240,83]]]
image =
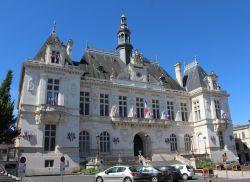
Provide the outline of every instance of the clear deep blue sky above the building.
[[157,57],[173,77],[177,61],[190,63],[196,56],[230,93],[233,123],[250,120],[249,0],[2,0],[0,80],[14,71],[13,99],[22,63],[39,51],[54,21],[61,41],[74,40],[73,59],[80,60],[86,41],[115,51],[122,9],[134,48]]

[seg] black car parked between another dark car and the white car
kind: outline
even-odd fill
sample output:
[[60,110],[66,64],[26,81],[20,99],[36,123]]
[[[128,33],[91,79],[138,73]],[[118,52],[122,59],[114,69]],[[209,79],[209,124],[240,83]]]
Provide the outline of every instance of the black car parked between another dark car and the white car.
[[182,179],[182,174],[179,169],[176,169],[173,166],[158,166],[155,167],[159,169],[160,171],[166,171],[167,176],[165,178],[165,181],[167,182],[173,182],[173,181],[178,181],[179,179]]

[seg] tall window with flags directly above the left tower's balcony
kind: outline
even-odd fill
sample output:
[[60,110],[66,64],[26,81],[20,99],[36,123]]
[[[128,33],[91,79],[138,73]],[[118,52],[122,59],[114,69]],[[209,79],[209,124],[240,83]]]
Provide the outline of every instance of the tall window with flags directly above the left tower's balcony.
[[59,80],[48,79],[47,104],[58,105]]

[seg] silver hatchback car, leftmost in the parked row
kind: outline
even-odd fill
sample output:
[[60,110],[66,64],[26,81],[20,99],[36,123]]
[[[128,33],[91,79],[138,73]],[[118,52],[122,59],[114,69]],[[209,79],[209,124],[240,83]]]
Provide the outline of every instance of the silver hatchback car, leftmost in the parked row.
[[95,182],[134,182],[136,168],[131,166],[113,166],[95,175]]

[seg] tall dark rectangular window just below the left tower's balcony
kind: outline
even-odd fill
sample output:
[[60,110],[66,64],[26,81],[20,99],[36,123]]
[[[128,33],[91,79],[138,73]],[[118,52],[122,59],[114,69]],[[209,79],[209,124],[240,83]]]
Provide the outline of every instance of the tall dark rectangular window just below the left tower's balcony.
[[45,125],[44,150],[54,151],[56,145],[56,125]]

